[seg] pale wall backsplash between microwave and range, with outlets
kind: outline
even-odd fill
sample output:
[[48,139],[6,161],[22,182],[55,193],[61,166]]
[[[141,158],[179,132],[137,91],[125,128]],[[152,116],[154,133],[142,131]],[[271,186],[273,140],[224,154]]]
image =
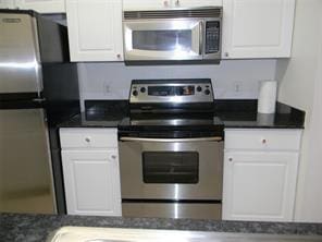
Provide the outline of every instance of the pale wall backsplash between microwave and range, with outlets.
[[[126,66],[79,63],[82,99],[127,99],[135,78],[211,78],[216,99],[253,99],[259,82],[274,80],[276,60],[226,60],[219,65]],[[82,101],[83,102],[83,101]]]

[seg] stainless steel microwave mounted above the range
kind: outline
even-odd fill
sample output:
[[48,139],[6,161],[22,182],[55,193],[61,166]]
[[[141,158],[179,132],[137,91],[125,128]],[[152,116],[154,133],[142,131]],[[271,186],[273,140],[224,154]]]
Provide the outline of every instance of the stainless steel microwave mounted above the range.
[[219,62],[222,8],[124,11],[127,64]]

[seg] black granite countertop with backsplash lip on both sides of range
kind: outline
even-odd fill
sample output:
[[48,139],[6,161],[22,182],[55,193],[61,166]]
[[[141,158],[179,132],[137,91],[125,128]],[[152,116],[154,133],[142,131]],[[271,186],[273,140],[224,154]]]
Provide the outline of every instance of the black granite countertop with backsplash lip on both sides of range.
[[[117,128],[128,116],[126,100],[87,100],[86,111],[60,128]],[[214,117],[224,128],[304,129],[305,112],[277,102],[274,114],[257,113],[257,100],[215,100]]]

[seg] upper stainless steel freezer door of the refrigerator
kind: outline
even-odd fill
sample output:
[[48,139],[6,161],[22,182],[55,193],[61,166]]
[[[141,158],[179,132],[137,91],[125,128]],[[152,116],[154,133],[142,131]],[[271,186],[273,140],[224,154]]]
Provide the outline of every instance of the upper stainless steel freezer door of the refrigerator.
[[0,14],[0,94],[41,90],[36,20]]

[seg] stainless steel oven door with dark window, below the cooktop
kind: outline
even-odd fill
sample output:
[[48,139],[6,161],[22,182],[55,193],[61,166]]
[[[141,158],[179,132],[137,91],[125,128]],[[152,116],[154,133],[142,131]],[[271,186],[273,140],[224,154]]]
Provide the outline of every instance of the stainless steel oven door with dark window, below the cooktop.
[[221,201],[223,142],[205,138],[120,141],[122,199]]

